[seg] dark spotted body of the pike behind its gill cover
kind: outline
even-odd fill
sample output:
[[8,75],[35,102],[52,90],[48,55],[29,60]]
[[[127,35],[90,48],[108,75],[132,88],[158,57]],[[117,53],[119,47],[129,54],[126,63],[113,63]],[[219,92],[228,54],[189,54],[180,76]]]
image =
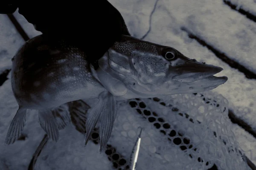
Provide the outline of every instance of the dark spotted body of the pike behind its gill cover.
[[39,35],[13,58],[12,90],[23,108],[52,108],[96,98],[105,88],[92,76],[83,51]]

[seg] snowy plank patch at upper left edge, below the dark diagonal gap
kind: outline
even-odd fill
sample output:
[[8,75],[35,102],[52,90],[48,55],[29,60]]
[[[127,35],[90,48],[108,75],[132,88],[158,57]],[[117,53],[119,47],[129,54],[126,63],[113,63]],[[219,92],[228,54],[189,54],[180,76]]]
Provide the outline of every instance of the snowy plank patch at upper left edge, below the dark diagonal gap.
[[11,59],[23,43],[7,15],[0,14],[0,74],[11,68]]

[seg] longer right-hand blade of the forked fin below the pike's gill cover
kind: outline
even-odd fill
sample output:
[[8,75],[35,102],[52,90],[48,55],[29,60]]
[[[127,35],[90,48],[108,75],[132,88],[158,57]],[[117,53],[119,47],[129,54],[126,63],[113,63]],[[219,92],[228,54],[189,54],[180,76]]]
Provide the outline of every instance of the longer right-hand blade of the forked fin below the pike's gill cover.
[[106,147],[116,119],[117,105],[114,96],[108,92],[102,114],[100,116],[100,153]]

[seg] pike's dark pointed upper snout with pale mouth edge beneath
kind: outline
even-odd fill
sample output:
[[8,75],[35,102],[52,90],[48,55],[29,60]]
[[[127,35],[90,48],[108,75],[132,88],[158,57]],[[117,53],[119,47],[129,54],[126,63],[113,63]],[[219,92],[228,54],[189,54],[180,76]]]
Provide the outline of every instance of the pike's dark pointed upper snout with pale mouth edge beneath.
[[204,62],[197,62],[195,60],[187,61],[183,65],[177,66],[176,69],[178,75],[173,76],[172,80],[183,83],[195,82],[223,70],[221,67],[205,64]]

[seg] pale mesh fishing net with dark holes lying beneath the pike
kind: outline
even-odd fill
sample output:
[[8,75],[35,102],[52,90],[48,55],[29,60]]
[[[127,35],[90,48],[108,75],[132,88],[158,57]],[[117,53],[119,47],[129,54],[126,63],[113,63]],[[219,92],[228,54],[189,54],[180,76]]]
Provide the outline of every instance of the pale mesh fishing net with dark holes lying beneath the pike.
[[73,124],[60,131],[57,143],[48,141],[35,170],[128,170],[138,127],[144,130],[137,170],[249,169],[231,130],[228,102],[220,94],[119,102],[111,138],[101,154],[97,126],[84,147],[85,124],[79,117],[87,116],[83,113],[89,107],[82,101],[68,105]]

